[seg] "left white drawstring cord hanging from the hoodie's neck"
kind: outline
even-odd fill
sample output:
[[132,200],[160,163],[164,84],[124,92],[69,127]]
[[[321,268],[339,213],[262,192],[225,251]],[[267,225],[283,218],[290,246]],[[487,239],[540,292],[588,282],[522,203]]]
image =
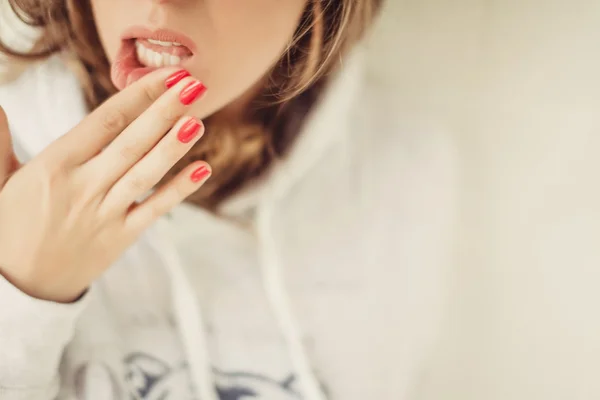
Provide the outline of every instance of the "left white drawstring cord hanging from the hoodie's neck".
[[202,310],[185,275],[179,253],[167,233],[166,224],[168,222],[164,220],[157,222],[155,228],[158,237],[154,240],[154,245],[160,249],[171,276],[173,309],[180,326],[179,331],[187,354],[192,382],[200,399],[219,400],[208,353],[208,340]]

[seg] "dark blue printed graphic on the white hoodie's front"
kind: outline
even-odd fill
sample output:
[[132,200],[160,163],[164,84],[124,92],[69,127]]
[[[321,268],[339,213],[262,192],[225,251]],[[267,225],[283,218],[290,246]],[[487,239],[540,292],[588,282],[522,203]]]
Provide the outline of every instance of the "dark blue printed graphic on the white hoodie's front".
[[[143,353],[125,360],[129,394],[121,396],[115,374],[103,364],[88,364],[76,374],[78,400],[201,400],[194,397],[185,364],[170,367]],[[215,370],[220,400],[300,400],[293,390],[294,377],[278,382],[252,373]]]

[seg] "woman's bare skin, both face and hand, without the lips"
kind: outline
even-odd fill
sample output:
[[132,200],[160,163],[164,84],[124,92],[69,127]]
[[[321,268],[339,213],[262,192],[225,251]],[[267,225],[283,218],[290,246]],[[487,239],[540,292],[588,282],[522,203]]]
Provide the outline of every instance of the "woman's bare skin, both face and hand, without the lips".
[[[167,89],[181,68],[146,75],[25,165],[15,158],[10,116],[0,107],[0,275],[32,297],[79,298],[210,177],[210,166],[196,161],[137,202],[201,139],[198,117],[242,112],[289,43],[306,1],[92,0],[111,61],[131,25],[176,28],[198,47],[184,65],[192,76]],[[200,86],[198,78],[212,95],[185,101],[184,88]]]

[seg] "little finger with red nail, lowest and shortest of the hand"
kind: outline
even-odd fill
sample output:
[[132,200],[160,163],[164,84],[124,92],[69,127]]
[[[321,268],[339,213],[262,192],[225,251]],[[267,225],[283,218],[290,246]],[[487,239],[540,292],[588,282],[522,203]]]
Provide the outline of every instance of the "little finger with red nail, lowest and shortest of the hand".
[[190,164],[173,180],[129,211],[124,221],[126,229],[135,234],[144,231],[197,191],[210,178],[211,173],[210,166],[205,162]]

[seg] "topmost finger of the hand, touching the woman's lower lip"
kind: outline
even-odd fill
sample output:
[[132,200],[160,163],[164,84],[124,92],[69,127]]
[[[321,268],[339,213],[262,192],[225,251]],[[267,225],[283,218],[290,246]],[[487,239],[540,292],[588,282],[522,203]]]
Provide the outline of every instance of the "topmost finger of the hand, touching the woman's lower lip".
[[68,154],[73,165],[88,161],[165,93],[165,82],[177,71],[161,68],[125,88],[49,146],[47,152],[61,159]]

